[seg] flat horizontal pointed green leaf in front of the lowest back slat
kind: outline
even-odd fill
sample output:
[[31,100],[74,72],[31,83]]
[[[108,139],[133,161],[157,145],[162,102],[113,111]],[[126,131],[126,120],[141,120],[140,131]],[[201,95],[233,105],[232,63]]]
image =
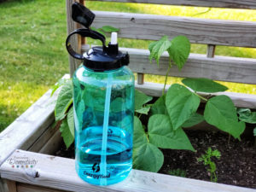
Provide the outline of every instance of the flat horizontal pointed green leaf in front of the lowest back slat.
[[215,93],[219,91],[228,90],[228,88],[222,84],[218,84],[212,79],[206,78],[186,78],[182,80],[183,84],[195,91]]

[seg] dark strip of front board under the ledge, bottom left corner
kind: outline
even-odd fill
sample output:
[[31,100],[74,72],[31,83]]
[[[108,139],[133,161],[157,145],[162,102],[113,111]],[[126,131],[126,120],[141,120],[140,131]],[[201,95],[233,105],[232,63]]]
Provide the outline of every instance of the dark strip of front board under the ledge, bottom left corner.
[[17,192],[61,192],[63,190],[50,189],[32,184],[17,183]]

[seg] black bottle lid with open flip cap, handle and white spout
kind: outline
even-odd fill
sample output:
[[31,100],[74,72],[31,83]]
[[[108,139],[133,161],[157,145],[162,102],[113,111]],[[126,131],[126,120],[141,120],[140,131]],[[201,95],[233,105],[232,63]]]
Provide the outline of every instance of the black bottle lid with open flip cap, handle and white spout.
[[[119,51],[116,32],[112,33],[111,42],[107,47],[105,45],[105,37],[101,33],[90,29],[90,25],[95,18],[95,15],[90,11],[90,9],[85,8],[81,3],[73,3],[72,17],[74,21],[79,22],[86,28],[77,29],[68,35],[66,47],[70,55],[76,59],[84,60],[84,66],[96,72],[113,70],[129,64],[128,53],[123,54]],[[73,50],[70,44],[70,38],[74,34],[79,34],[82,37],[99,39],[102,41],[102,46],[89,49],[86,53],[84,53],[84,55],[80,55]]]

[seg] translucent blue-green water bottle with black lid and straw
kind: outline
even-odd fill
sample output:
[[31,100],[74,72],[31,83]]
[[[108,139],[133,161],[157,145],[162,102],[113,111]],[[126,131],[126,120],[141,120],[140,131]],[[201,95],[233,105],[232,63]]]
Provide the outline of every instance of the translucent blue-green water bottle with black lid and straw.
[[[97,185],[118,183],[132,168],[134,76],[127,67],[129,55],[119,51],[117,33],[105,37],[90,29],[95,15],[80,3],[73,4],[73,20],[85,28],[67,37],[67,50],[83,60],[73,74],[75,167],[79,177]],[[102,41],[102,46],[76,53],[73,34]]]

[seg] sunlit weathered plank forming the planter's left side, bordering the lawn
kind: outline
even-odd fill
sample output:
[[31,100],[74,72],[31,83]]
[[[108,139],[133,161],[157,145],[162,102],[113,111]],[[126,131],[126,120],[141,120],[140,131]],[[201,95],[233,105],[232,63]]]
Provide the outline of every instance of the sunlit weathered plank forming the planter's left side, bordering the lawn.
[[0,165],[16,148],[29,148],[54,121],[55,96],[51,90],[0,133]]

